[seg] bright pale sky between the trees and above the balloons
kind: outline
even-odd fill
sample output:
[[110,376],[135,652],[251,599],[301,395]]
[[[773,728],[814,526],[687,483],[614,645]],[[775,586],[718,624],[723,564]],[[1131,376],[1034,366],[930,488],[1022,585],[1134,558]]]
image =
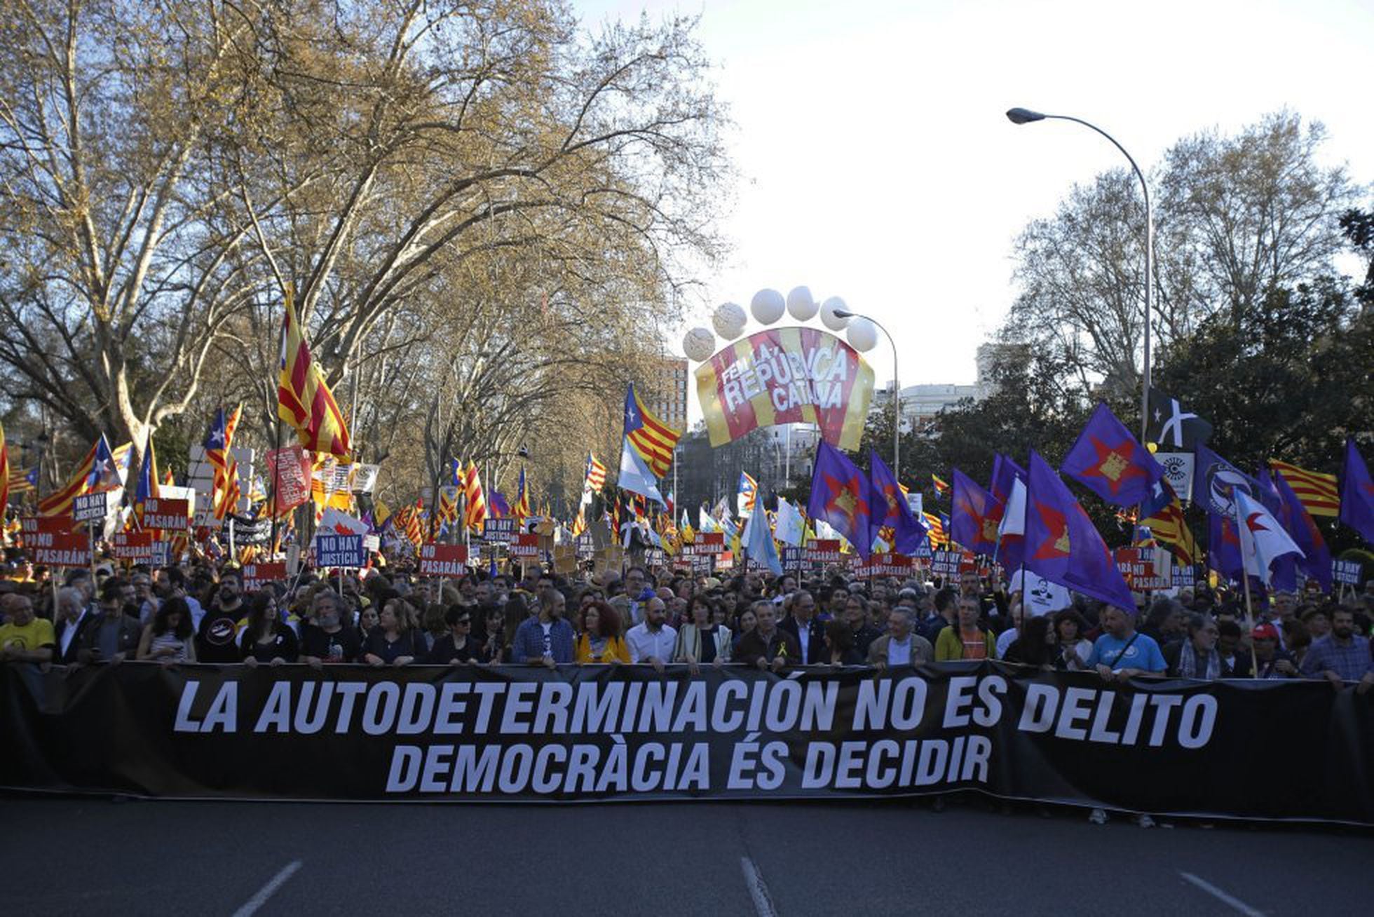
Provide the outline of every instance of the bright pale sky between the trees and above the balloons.
[[[1374,180],[1374,0],[574,8],[589,26],[701,15],[742,172],[724,224],[735,253],[708,278],[712,304],[747,308],[760,287],[800,283],[841,296],[897,337],[903,385],[971,382],[974,351],[1011,301],[1017,232],[1074,181],[1127,165],[1087,128],[1014,126],[1009,107],[1092,121],[1147,170],[1182,136],[1287,107],[1326,124],[1327,162]],[[892,378],[886,341],[868,357],[879,382]]]

